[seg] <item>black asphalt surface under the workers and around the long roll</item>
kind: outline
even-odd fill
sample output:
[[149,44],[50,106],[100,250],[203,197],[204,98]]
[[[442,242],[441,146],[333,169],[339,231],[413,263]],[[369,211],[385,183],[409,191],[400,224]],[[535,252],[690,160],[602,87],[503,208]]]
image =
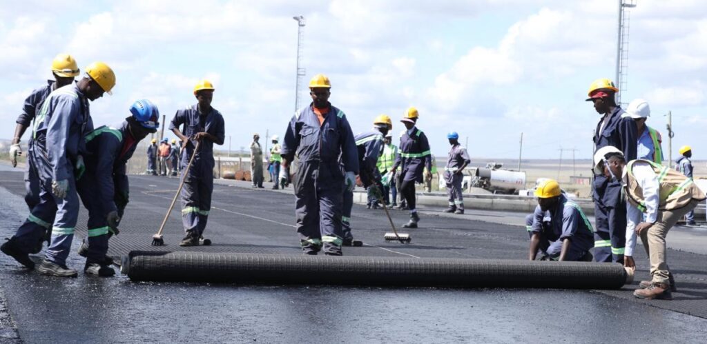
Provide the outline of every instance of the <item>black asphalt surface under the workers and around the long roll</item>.
[[[177,189],[178,179],[130,176],[130,203],[109,254],[131,250],[187,250],[180,207],[165,229],[165,246],[151,246]],[[211,247],[189,251],[300,254],[293,195],[220,182],[214,189],[206,237]],[[22,174],[0,165],[0,237],[10,237],[28,210]],[[392,211],[397,225],[407,213]],[[420,228],[406,230],[411,244],[385,242],[390,227],[382,210],[354,206],[352,223],[364,247],[345,255],[525,259],[522,214],[467,210],[467,215],[422,212]],[[517,225],[509,225],[516,223]],[[68,265],[86,233],[82,209]],[[525,290],[310,285],[134,283],[123,275],[50,278],[0,255],[0,343],[233,343],[487,342],[570,343],[674,341],[707,338],[707,231],[675,228],[685,247],[669,250],[679,291],[672,301],[643,301],[621,290]],[[671,235],[673,232],[671,232]],[[668,236],[670,242],[671,235]],[[686,239],[689,238],[689,239]],[[689,243],[688,243],[689,242]],[[648,278],[648,259],[636,250],[637,280]],[[5,305],[5,306],[4,306]],[[8,316],[3,316],[6,307]]]

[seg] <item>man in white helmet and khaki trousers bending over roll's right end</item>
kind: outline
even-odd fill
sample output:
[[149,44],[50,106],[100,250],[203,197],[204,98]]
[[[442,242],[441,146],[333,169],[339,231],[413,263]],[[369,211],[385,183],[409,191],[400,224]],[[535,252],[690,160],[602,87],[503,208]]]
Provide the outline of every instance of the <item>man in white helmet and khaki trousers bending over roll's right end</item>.
[[641,299],[672,299],[671,273],[667,266],[665,237],[686,213],[707,196],[691,178],[650,160],[626,162],[624,153],[607,146],[594,157],[595,173],[621,179],[623,192],[633,211],[645,215],[636,225],[643,247],[650,257],[650,284],[641,282],[643,289],[633,292]]

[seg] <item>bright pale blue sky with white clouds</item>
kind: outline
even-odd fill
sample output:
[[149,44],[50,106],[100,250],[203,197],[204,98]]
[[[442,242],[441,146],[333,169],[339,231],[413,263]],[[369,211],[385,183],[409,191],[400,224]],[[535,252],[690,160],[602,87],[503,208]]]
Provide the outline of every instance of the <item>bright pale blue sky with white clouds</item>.
[[[637,3],[622,101],[648,100],[648,124],[664,133],[672,111],[673,155],[689,144],[696,158],[707,157],[698,139],[707,129],[707,4]],[[292,16],[302,15],[305,85],[326,73],[332,104],[354,133],[378,114],[399,119],[416,106],[436,155],[455,130],[462,142],[468,137],[472,157],[515,158],[522,132],[524,158],[558,158],[560,147],[590,158],[599,115],[585,98],[595,78],[614,78],[617,7],[617,0],[25,0],[0,6],[0,138],[13,136],[24,98],[51,77],[59,52],[81,69],[100,60],[115,70],[113,95],[91,106],[96,124],[119,122],[141,98],[169,120],[195,103],[194,83],[209,78],[233,149],[253,132],[283,134],[295,99]],[[308,93],[300,99],[308,102]]]

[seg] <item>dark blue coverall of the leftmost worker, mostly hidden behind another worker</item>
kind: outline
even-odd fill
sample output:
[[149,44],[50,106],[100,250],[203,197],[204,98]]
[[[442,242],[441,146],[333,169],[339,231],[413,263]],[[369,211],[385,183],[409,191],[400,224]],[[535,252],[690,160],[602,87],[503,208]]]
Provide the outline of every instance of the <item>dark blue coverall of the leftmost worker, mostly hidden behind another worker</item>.
[[[37,88],[30,93],[25,99],[22,113],[17,117],[17,124],[22,124],[28,128],[32,126],[33,119],[35,119],[37,112],[42,109],[42,104],[44,104],[49,93],[52,93],[54,90],[55,84],[55,81],[47,80],[47,85]],[[30,211],[40,203],[40,176],[37,173],[37,167],[34,165],[33,144],[34,139],[30,135],[27,142],[27,163],[25,164],[25,191],[27,192],[25,194],[25,203],[27,203]],[[50,219],[49,222],[54,222],[54,218]]]

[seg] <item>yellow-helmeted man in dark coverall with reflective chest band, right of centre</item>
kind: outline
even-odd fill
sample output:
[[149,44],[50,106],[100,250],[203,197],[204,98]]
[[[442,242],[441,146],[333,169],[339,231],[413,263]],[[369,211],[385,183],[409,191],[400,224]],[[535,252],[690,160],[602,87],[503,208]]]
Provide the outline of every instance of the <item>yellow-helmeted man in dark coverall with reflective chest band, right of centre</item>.
[[400,136],[400,153],[395,159],[392,171],[395,173],[398,167],[401,171],[399,179],[401,181],[398,192],[407,203],[410,209],[410,221],[402,225],[404,228],[417,228],[417,223],[420,221],[420,216],[415,208],[415,183],[423,182],[423,170],[427,167],[425,179],[431,179],[432,174],[432,154],[430,145],[427,141],[427,136],[420,129],[417,129],[416,123],[419,119],[419,113],[414,107],[410,107],[405,113],[402,123],[405,125],[405,131]]

